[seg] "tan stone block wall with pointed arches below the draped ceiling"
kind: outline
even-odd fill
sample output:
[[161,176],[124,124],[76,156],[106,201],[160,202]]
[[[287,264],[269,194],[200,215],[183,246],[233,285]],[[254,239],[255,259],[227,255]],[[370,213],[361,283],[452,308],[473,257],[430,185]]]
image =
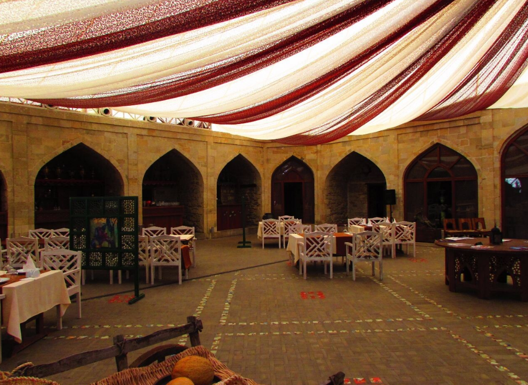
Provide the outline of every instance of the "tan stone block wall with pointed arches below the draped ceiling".
[[314,173],[315,220],[323,223],[359,214],[361,209],[353,208],[351,200],[346,208],[340,202],[343,196],[351,197],[351,191],[356,192],[355,201],[365,202],[358,194],[359,187],[340,183],[339,178],[328,180],[332,169],[347,155],[356,152],[380,168],[386,187],[397,192],[393,215],[403,218],[403,175],[407,166],[433,144],[442,143],[475,166],[478,213],[487,223],[493,223],[501,218],[499,161],[503,146],[526,124],[528,108],[485,110],[458,119],[411,122],[324,145],[287,146],[198,128],[0,103],[0,172],[5,181],[2,197],[6,198],[2,200],[6,203],[3,207],[7,206],[8,234],[27,234],[34,227],[37,173],[50,159],[79,143],[107,159],[122,178],[122,193],[138,195],[140,201],[145,171],[156,159],[175,149],[187,162],[188,170],[199,176],[195,179],[187,175],[191,182],[178,197],[187,205],[185,220],[206,236],[216,228],[218,176],[239,154],[254,167],[257,180],[257,187],[250,192],[251,210],[255,212],[252,221],[271,212],[271,175],[293,155]]

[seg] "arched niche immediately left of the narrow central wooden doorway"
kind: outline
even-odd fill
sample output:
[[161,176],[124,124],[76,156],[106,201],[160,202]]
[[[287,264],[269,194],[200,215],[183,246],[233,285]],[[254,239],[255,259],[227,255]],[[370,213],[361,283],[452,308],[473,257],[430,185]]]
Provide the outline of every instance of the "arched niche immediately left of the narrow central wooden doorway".
[[222,169],[216,182],[216,228],[242,227],[242,197],[245,197],[246,226],[257,226],[261,217],[262,179],[244,156],[235,156]]

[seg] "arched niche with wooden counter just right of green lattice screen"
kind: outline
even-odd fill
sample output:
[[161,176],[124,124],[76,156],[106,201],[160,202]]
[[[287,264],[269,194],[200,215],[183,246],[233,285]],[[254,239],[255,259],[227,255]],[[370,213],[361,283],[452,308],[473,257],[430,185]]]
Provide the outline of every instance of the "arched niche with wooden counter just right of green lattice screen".
[[[155,205],[154,205],[155,204]],[[203,178],[189,159],[172,149],[143,176],[143,225],[203,228]]]

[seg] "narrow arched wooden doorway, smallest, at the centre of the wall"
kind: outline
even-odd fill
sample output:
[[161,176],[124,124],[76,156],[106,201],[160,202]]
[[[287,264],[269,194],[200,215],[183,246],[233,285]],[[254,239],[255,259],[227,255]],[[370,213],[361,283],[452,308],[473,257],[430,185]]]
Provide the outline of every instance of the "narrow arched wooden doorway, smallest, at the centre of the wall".
[[295,156],[278,166],[271,176],[271,213],[293,215],[314,223],[314,173]]

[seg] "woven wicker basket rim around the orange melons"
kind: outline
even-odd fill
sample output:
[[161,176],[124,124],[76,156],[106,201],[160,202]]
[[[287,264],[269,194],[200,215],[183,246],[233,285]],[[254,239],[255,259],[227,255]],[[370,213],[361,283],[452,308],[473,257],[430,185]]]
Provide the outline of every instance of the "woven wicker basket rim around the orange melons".
[[[222,385],[258,385],[253,380],[243,378],[239,374],[228,369],[223,363],[218,361],[214,354],[203,346],[194,346],[176,354],[167,360],[149,365],[143,368],[131,368],[110,375],[91,385],[153,385],[158,380],[170,375],[176,361],[188,356],[199,355],[208,359],[213,364],[214,375],[221,379],[217,384]],[[0,385],[2,385],[0,383]]]

